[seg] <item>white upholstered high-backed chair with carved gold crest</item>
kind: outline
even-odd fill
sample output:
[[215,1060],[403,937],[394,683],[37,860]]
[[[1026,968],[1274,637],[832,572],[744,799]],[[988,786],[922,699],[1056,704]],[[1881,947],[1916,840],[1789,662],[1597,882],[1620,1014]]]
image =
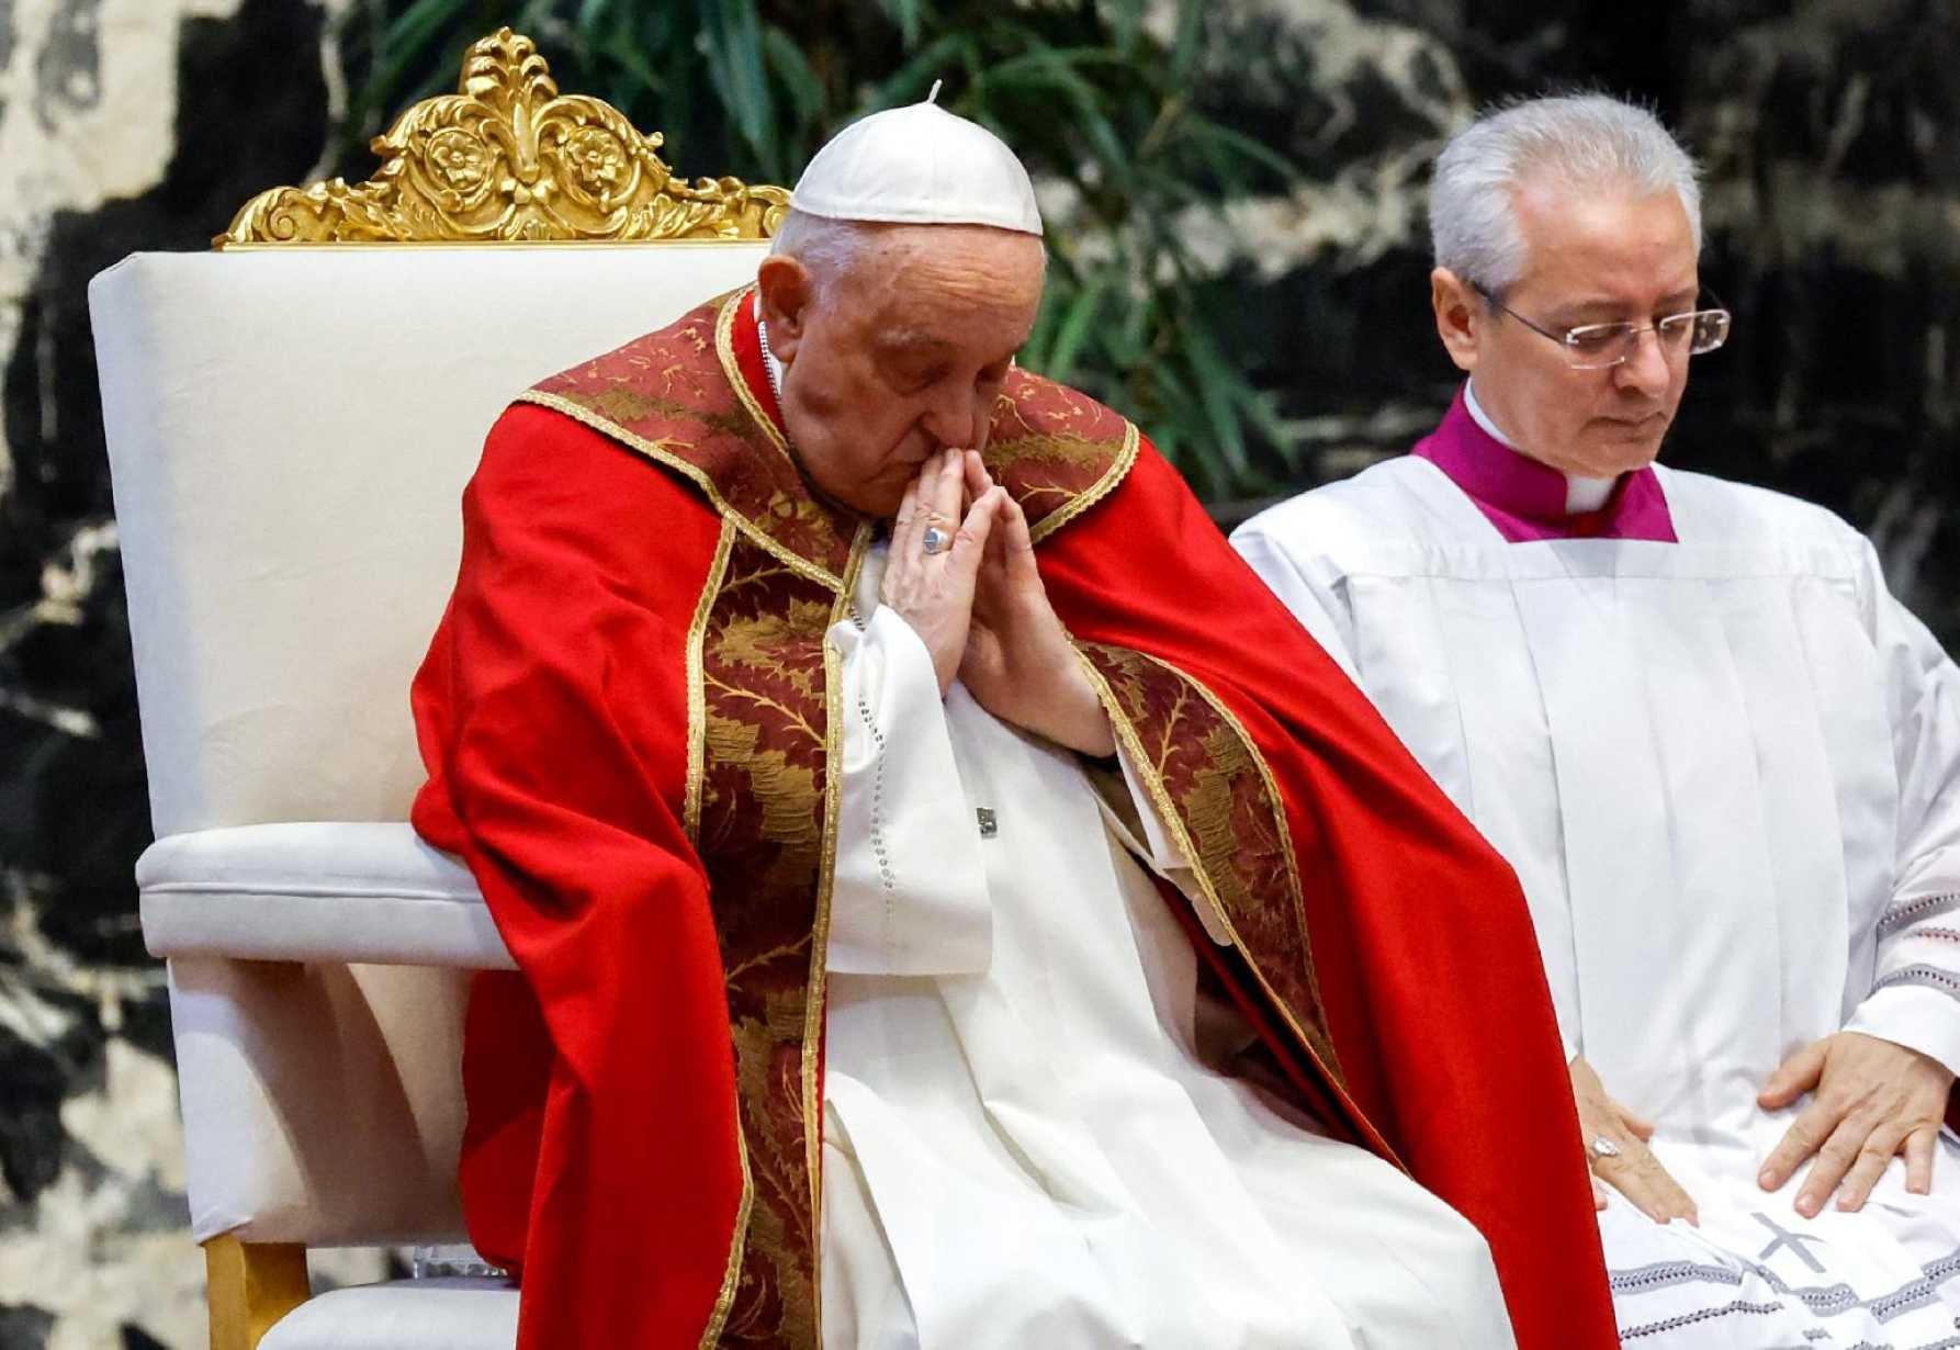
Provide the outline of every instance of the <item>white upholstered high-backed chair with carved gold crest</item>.
[[510,954],[406,825],[408,688],[506,402],[766,251],[780,190],[666,180],[657,143],[504,29],[374,180],[263,194],[218,251],[90,284],[214,1350],[515,1336],[498,1279],[312,1297],[306,1248],[465,1240],[463,1005]]

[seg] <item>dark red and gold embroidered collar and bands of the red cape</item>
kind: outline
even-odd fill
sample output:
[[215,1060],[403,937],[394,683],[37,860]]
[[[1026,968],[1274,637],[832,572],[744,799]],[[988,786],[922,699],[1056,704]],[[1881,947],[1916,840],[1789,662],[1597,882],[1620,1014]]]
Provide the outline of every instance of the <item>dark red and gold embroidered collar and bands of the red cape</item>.
[[[837,850],[839,664],[870,529],[813,498],[737,357],[751,290],[564,370],[551,408],[692,482],[721,539],[688,635],[684,819],[710,878],[737,1064],[743,1199],[702,1346],[821,1344],[825,944]],[[1137,429],[1015,370],[988,466],[1037,541],[1121,484]],[[1284,803],[1239,719],[1196,678],[1084,643],[1086,668],[1194,862],[1205,903],[1356,1138],[1386,1140],[1347,1095],[1325,1027]],[[1399,1164],[1397,1164],[1399,1166]]]

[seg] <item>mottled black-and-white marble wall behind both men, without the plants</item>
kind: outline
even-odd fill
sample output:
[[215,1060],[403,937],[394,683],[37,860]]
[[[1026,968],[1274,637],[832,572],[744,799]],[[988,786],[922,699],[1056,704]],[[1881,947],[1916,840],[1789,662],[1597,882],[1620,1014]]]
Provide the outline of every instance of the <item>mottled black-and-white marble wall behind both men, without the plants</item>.
[[[367,169],[321,163],[347,86],[339,8],[0,0],[8,1350],[204,1336],[163,978],[135,923],[149,815],[84,286],[135,249],[204,247],[263,186]],[[1709,167],[1703,274],[1739,312],[1670,458],[1842,511],[1960,637],[1954,4],[1219,0],[1205,22],[1200,104],[1309,169],[1294,196],[1192,231],[1243,294],[1239,357],[1317,476],[1403,449],[1454,386],[1421,219],[1448,129],[1507,92],[1631,92]]]

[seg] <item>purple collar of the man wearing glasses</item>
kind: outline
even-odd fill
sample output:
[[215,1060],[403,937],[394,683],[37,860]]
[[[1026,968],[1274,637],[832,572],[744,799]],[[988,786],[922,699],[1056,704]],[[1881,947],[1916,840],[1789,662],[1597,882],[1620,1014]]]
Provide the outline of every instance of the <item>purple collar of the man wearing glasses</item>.
[[1541,539],[1652,539],[1678,543],[1668,498],[1652,468],[1621,474],[1597,511],[1566,515],[1566,476],[1492,439],[1464,408],[1462,390],[1411,451],[1464,490],[1509,543]]

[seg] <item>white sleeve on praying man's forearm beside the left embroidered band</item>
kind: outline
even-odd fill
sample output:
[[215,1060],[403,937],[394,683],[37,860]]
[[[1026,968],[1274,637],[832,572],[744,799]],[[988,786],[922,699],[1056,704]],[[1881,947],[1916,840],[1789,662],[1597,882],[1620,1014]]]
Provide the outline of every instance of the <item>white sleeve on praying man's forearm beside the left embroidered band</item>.
[[988,968],[980,827],[960,786],[925,643],[880,607],[829,631],[841,656],[843,766],[827,966],[853,976]]

